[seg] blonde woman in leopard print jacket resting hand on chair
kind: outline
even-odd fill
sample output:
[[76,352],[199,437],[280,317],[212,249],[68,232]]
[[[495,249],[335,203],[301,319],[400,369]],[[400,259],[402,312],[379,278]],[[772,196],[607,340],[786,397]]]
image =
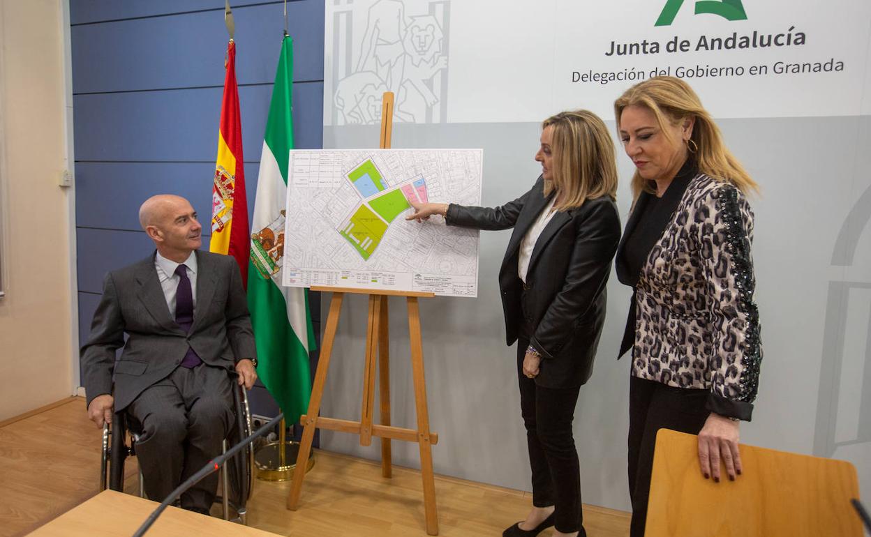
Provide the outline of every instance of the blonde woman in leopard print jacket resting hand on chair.
[[631,349],[631,535],[645,530],[660,428],[699,434],[704,477],[741,473],[762,351],[750,245],[753,179],[723,144],[692,88],[655,77],[614,104],[636,165],[634,203],[616,258],[634,288],[620,355]]

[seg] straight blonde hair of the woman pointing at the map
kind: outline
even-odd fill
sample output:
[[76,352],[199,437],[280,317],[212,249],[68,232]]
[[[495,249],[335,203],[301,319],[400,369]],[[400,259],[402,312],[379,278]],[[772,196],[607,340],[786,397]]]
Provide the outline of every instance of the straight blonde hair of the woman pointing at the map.
[[545,119],[542,129],[547,127],[553,127],[553,178],[544,182],[544,195],[557,191],[559,204],[554,208],[568,211],[587,199],[616,198],[614,142],[602,119],[591,111],[564,111]]

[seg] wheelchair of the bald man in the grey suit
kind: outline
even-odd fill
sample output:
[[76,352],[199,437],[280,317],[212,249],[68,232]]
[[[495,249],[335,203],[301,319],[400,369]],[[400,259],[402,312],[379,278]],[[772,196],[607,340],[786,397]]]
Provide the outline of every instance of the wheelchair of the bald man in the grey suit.
[[[233,382],[233,408],[235,426],[223,441],[222,453],[240,440],[246,439],[253,431],[251,426],[251,408],[248,406],[248,396],[244,386]],[[129,433],[129,435],[128,435]],[[130,440],[128,441],[128,436]],[[137,432],[131,431],[126,413],[122,410],[114,414],[112,424],[103,426],[103,454],[100,460],[100,491],[106,488],[124,492],[124,463],[127,457],[136,456]],[[215,503],[223,507],[224,520],[233,520],[246,524],[246,504],[251,498],[253,485],[254,452],[249,444],[245,449],[233,455],[220,469],[219,495]],[[145,497],[142,469],[139,469],[139,496]],[[152,498],[152,500],[163,500]],[[236,513],[230,517],[230,509]]]

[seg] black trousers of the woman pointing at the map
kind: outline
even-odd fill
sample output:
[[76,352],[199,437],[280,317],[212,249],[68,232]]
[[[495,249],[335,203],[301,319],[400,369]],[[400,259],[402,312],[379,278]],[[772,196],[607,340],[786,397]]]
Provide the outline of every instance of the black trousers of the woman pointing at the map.
[[517,340],[517,379],[523,426],[526,427],[526,442],[530,450],[532,505],[554,506],[557,530],[566,534],[578,532],[580,537],[584,537],[581,475],[571,433],[577,394],[581,388],[546,388],[537,386],[535,379],[527,378],[523,374],[523,356],[529,345],[529,336],[522,334]]

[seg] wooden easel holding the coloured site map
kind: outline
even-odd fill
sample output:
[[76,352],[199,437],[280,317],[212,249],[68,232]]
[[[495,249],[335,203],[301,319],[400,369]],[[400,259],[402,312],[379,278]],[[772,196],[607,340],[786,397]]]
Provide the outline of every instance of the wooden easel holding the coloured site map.
[[[390,147],[390,135],[393,130],[393,98],[392,92],[384,93],[381,102],[381,148]],[[417,442],[421,451],[421,474],[423,478],[423,506],[426,514],[427,534],[438,534],[438,514],[436,513],[436,482],[433,475],[432,446],[438,443],[438,435],[429,432],[429,411],[427,410],[427,388],[423,379],[423,346],[421,338],[421,315],[418,298],[432,298],[432,292],[395,292],[382,290],[348,289],[343,287],[313,286],[312,291],[332,292],[327,326],[324,328],[324,339],[321,344],[321,358],[317,373],[314,374],[312,397],[308,401],[308,413],[300,417],[304,426],[300,451],[296,460],[294,480],[287,496],[287,508],[295,511],[300,500],[302,480],[305,477],[306,461],[311,452],[314,429],[329,429],[343,433],[360,435],[360,445],[370,446],[372,437],[381,438],[381,476],[392,476],[392,460],[390,440],[405,440]],[[363,402],[360,421],[336,420],[323,418],[321,398],[327,381],[330,355],[333,352],[333,342],[336,328],[339,325],[341,303],[346,293],[367,294],[369,309],[366,334],[366,366],[363,373]],[[405,297],[408,303],[408,333],[411,342],[412,379],[415,384],[415,409],[417,428],[406,429],[390,425],[390,365],[388,336],[388,297]],[[377,364],[376,364],[377,355]],[[381,424],[373,423],[375,413],[375,369],[379,370],[378,386],[381,393]]]

